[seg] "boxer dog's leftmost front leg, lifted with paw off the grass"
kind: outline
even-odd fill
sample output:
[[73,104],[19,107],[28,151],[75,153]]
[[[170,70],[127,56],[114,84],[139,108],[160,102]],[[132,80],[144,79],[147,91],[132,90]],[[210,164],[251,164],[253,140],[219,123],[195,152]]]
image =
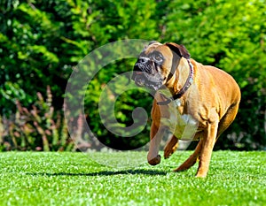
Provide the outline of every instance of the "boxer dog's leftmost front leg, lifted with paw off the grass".
[[160,141],[162,139],[163,133],[164,133],[163,128],[155,126],[154,123],[152,124],[151,134],[150,134],[151,138],[150,148],[147,156],[148,163],[151,165],[160,164],[159,150],[160,150]]

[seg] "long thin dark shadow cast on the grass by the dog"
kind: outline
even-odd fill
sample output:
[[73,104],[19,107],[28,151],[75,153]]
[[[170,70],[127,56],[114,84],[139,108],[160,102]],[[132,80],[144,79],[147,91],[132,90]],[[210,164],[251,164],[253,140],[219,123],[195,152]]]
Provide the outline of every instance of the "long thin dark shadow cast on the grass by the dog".
[[71,173],[71,172],[58,172],[58,173],[49,173],[49,172],[29,172],[27,175],[33,176],[113,176],[121,174],[144,174],[144,175],[166,175],[167,172],[152,171],[152,170],[126,170],[126,171],[101,171],[101,172],[89,172],[89,173]]

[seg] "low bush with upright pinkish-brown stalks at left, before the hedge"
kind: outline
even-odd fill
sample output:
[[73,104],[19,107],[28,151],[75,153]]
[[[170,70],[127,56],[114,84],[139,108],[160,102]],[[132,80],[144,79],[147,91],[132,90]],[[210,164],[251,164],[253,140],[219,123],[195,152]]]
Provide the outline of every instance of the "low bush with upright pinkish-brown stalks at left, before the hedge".
[[15,115],[0,119],[2,128],[0,150],[69,151],[77,149],[79,142],[75,141],[82,135],[82,124],[76,124],[75,140],[71,139],[62,112],[54,111],[51,104],[50,87],[47,88],[46,100],[41,93],[37,93],[37,96],[38,100],[31,110],[27,110],[17,101]]

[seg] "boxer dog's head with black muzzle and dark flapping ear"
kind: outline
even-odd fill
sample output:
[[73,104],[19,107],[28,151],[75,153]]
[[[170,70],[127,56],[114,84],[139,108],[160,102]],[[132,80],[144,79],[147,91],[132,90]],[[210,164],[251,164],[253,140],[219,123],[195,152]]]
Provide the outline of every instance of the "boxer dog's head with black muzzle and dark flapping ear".
[[137,58],[132,80],[135,80],[137,86],[158,90],[172,78],[181,57],[190,58],[183,45],[151,42]]

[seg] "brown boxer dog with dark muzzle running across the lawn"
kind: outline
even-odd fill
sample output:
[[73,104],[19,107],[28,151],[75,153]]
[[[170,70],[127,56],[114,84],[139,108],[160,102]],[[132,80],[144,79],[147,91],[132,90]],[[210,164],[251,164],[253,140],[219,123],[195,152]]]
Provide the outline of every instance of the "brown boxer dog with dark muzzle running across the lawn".
[[236,81],[218,68],[191,59],[183,45],[173,42],[151,42],[133,72],[138,86],[156,90],[149,164],[160,163],[160,141],[168,129],[173,136],[164,149],[165,158],[175,152],[178,139],[199,141],[192,156],[175,171],[189,169],[199,158],[196,177],[206,177],[215,141],[239,110]]

